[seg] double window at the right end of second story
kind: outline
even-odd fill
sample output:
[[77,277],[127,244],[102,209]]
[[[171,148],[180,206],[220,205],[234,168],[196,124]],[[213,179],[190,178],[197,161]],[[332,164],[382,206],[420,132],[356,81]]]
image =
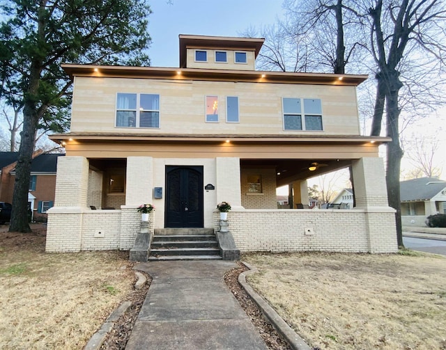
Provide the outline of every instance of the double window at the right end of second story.
[[284,97],[282,108],[285,130],[323,130],[321,100]]

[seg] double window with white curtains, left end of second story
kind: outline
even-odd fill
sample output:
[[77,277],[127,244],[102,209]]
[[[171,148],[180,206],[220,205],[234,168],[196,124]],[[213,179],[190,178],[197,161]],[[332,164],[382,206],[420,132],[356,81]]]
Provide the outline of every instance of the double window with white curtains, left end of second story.
[[160,127],[160,95],[118,93],[116,127]]

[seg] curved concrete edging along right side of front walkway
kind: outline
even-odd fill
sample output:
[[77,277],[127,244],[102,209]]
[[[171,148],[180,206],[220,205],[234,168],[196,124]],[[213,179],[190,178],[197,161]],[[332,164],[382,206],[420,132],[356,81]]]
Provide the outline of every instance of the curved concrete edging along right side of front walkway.
[[311,350],[307,343],[305,343],[305,340],[300,337],[295,331],[293,331],[293,328],[291,328],[282,317],[275,312],[273,308],[263,299],[259,294],[257,294],[254,289],[246,282],[246,276],[255,273],[259,270],[257,270],[255,267],[252,267],[251,265],[247,264],[246,262],[242,262],[249,271],[245,271],[240,273],[238,276],[238,283],[245,289],[245,292],[254,300],[254,302],[259,306],[261,312],[265,317],[268,319],[268,321],[271,322],[272,326],[276,329],[277,332],[284,337],[286,342],[289,344],[291,349],[293,350]]

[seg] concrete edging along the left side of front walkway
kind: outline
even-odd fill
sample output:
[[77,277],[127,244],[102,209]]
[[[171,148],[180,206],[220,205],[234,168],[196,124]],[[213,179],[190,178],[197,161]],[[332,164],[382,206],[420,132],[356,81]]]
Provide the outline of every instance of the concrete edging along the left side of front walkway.
[[[135,272],[134,274],[138,278],[137,282],[134,284],[134,289],[141,289],[146,284],[147,278],[140,272]],[[107,317],[99,331],[96,331],[96,333],[91,336],[89,342],[86,343],[84,350],[99,350],[100,347],[102,347],[102,344],[104,344],[105,338],[107,337],[109,331],[112,331],[112,328],[118,321],[119,317],[124,315],[130,306],[132,306],[131,301],[124,301],[121,303],[121,305],[118,305],[118,307],[109,315],[109,317]]]

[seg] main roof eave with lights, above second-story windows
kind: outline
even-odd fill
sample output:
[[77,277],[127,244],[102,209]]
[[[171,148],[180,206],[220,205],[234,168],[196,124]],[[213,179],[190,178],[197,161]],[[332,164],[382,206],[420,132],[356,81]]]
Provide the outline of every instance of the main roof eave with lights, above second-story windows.
[[328,74],[270,72],[259,70],[215,70],[174,67],[130,67],[120,65],[62,64],[73,77],[169,79],[178,81],[240,81],[252,83],[295,83],[315,85],[358,86],[368,78],[365,74]]

